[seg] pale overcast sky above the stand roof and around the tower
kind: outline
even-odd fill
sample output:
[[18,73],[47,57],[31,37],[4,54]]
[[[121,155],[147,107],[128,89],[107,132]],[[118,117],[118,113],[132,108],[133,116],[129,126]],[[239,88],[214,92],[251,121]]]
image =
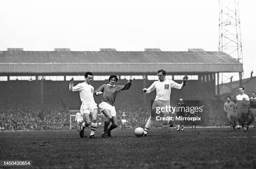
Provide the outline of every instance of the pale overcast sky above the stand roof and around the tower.
[[[0,0],[0,7],[2,51],[218,51],[219,0]],[[239,1],[245,78],[256,75],[255,7]]]

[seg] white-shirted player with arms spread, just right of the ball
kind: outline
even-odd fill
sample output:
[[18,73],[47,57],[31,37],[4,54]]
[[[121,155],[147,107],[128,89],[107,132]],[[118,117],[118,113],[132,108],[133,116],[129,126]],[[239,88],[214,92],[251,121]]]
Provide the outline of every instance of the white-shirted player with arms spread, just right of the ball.
[[[144,88],[143,92],[146,94],[152,92],[153,90],[156,90],[156,99],[154,100],[152,107],[151,107],[151,116],[148,118],[148,121],[146,123],[146,127],[144,129],[144,136],[147,136],[148,130],[151,127],[151,124],[154,122],[156,118],[156,109],[157,107],[166,107],[170,106],[170,95],[171,95],[171,89],[182,89],[187,82],[187,75],[183,77],[182,84],[178,84],[174,82],[173,80],[166,79],[166,71],[163,69],[160,69],[157,71],[158,75],[158,81],[153,82],[153,84],[148,87],[148,89]],[[166,117],[166,115],[169,114],[169,112],[162,112],[163,116]],[[169,121],[165,120],[162,121],[162,123],[165,125],[169,123]],[[171,124],[170,124],[171,126]]]

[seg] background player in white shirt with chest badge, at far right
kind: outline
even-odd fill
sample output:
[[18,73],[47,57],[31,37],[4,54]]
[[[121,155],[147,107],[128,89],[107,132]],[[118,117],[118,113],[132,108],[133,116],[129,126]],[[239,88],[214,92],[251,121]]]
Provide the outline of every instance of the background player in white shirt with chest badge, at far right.
[[243,126],[244,132],[247,131],[248,124],[248,106],[250,105],[250,99],[247,94],[244,94],[244,88],[239,87],[239,92],[236,96],[236,104],[237,104],[237,119],[238,122]]

